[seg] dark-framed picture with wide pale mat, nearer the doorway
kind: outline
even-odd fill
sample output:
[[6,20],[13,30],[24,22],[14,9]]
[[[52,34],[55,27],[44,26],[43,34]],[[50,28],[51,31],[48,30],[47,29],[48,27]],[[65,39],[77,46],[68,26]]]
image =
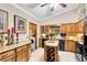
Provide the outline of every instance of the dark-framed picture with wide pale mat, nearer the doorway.
[[25,33],[26,32],[26,19],[14,15],[14,32]]

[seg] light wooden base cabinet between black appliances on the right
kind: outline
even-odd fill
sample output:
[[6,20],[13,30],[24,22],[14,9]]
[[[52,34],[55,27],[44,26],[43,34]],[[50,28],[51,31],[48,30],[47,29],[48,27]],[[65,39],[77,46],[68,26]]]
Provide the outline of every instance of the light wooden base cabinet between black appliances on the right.
[[67,52],[75,52],[75,41],[73,41],[73,40],[65,40],[65,51],[67,51]]

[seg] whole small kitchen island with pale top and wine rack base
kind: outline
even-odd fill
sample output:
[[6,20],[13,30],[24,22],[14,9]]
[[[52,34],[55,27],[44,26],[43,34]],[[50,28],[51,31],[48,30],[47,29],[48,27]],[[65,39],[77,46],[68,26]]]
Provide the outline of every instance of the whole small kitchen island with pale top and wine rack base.
[[58,61],[58,41],[46,41],[44,45],[44,59],[46,62]]

